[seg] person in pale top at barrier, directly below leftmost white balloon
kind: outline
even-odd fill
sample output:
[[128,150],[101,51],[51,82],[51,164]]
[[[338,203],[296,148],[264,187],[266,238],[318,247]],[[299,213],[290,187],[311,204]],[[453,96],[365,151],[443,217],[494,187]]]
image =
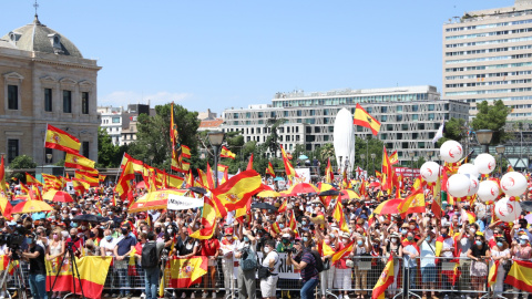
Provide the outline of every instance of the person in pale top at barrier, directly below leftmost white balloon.
[[[438,277],[436,268],[436,233],[428,228],[419,240],[421,257],[421,282],[423,285],[423,297],[427,298],[427,290],[431,290],[432,299],[436,299],[436,279]],[[463,272],[462,272],[463,275]]]

